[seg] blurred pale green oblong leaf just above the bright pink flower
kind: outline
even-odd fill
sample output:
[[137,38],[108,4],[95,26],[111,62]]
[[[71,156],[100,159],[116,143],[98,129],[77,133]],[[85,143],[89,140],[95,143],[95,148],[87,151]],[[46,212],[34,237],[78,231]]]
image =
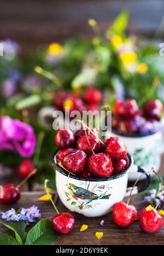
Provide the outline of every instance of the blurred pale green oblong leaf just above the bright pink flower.
[[24,99],[19,100],[15,107],[17,110],[26,109],[27,107],[35,106],[42,101],[42,98],[39,95],[31,95]]

